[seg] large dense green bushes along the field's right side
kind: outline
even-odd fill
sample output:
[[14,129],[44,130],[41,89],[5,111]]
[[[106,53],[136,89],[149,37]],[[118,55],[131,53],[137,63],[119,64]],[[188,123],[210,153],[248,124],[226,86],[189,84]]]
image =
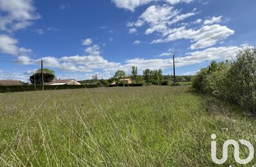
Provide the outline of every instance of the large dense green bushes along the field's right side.
[[212,62],[194,76],[192,87],[256,114],[256,49],[239,51],[233,61]]

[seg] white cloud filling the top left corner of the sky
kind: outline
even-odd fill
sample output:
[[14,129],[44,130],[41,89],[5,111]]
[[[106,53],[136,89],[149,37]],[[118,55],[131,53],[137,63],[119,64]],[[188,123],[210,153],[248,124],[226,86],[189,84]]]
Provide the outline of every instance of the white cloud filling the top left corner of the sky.
[[39,19],[32,0],[0,0],[0,30],[15,31],[26,28]]

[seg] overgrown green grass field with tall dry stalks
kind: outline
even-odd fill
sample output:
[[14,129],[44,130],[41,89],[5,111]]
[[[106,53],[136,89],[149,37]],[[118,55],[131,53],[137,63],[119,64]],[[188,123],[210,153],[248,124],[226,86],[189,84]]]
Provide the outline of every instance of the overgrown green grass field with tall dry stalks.
[[239,113],[186,85],[0,94],[0,166],[215,166],[211,134],[219,157],[227,139],[256,144]]

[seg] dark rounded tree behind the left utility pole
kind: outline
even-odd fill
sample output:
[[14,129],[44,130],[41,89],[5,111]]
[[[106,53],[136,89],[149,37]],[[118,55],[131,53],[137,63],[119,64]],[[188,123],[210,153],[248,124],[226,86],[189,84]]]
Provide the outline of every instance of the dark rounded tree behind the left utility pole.
[[[49,83],[54,80],[55,71],[53,71],[52,69],[43,69],[43,73],[44,73],[44,82],[45,83]],[[34,80],[34,78],[35,78],[35,80]],[[41,69],[37,69],[37,71],[35,71],[35,74],[30,76],[30,82],[31,82],[31,84],[42,84]]]

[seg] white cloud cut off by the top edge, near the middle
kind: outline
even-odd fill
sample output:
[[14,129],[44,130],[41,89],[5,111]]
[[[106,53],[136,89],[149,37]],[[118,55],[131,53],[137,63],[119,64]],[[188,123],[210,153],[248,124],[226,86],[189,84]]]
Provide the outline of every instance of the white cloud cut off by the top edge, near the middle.
[[156,1],[164,1],[169,4],[178,4],[178,3],[190,3],[193,0],[112,0],[116,7],[124,8],[134,12],[134,9],[138,6],[149,4]]

